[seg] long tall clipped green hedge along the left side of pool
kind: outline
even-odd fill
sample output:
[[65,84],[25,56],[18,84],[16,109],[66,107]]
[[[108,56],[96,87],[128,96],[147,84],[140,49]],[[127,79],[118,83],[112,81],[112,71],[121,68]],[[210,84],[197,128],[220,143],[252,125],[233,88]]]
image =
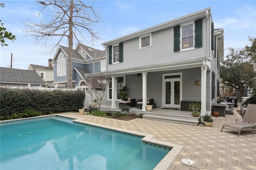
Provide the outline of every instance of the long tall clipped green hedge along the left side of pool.
[[11,89],[0,88],[0,115],[11,116],[24,109],[42,113],[78,110],[84,107],[85,93],[81,90]]

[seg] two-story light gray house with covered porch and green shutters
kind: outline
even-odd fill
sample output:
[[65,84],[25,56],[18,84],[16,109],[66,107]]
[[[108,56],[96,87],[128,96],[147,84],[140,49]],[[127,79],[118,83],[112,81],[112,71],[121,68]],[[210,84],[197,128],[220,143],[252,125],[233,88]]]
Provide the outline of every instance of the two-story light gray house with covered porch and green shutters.
[[[187,110],[200,102],[201,115],[218,97],[219,62],[224,57],[224,31],[214,30],[210,8],[102,43],[107,71],[113,75],[106,104],[117,108],[120,91],[156,108]],[[184,108],[183,108],[184,107]]]

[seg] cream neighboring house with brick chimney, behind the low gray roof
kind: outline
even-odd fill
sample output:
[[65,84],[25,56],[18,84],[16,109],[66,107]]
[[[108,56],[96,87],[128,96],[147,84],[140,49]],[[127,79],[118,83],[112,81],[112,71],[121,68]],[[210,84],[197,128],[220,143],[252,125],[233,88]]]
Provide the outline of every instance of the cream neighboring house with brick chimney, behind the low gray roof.
[[30,64],[28,70],[36,71],[36,73],[42,77],[42,79],[46,82],[46,85],[43,85],[42,87],[54,87],[52,59],[48,59],[48,67]]

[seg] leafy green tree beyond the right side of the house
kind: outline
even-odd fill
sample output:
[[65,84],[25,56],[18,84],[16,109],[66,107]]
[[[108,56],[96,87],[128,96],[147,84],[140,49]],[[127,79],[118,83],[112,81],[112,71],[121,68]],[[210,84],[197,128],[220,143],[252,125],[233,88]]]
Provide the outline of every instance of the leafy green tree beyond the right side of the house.
[[255,38],[250,38],[252,46],[245,48],[228,47],[229,53],[226,60],[220,65],[222,83],[238,89],[241,97],[244,96],[244,84],[256,87],[255,71]]

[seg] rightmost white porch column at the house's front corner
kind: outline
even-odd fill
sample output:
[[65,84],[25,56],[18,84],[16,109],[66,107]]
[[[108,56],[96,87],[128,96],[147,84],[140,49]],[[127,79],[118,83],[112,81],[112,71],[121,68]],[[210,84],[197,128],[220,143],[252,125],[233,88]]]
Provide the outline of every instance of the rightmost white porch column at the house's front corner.
[[203,66],[201,66],[201,115],[206,114],[206,72],[207,65],[206,62],[203,61]]

